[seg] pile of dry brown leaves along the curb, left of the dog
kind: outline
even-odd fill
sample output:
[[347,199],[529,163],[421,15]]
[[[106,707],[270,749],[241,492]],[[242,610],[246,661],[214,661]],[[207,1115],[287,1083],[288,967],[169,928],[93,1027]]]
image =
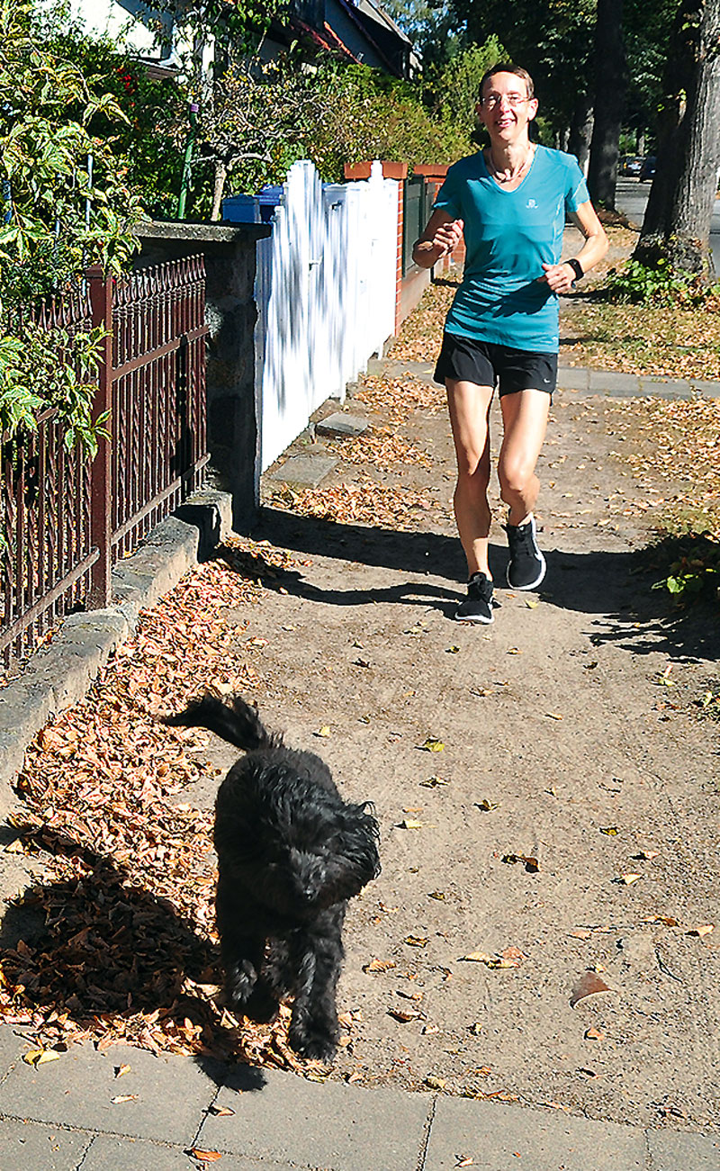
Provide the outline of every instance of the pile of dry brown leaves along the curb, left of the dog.
[[[258,577],[289,563],[265,542],[233,539],[142,616],[88,698],[28,749],[12,849],[41,856],[44,871],[6,913],[20,938],[0,963],[0,1019],[43,1050],[92,1039],[297,1066],[287,1012],[254,1026],[215,1004],[212,813],[177,800],[215,769],[192,755],[206,732],[157,719],[208,686],[258,685],[238,657],[238,628],[218,614],[260,600],[248,568]],[[28,911],[44,919],[30,943]]]

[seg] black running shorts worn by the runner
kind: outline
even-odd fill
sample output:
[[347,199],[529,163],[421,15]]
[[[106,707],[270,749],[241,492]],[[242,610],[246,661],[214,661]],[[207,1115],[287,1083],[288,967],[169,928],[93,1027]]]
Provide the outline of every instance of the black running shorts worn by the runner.
[[547,390],[551,397],[557,383],[557,354],[514,350],[476,337],[444,334],[433,377],[440,384],[452,378],[498,386],[501,398],[519,390]]

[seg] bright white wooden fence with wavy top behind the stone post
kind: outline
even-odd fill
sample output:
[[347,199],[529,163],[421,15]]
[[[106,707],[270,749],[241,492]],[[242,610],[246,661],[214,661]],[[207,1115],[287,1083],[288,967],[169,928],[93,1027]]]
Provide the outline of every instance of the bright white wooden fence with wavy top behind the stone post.
[[366,182],[322,184],[295,163],[258,242],[255,408],[259,471],[327,398],[380,354],[395,328],[398,187],[379,163]]

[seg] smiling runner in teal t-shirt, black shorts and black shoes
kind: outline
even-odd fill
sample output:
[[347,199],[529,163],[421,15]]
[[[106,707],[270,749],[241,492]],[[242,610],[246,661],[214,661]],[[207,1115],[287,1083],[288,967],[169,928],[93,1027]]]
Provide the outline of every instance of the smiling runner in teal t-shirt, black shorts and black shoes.
[[[507,582],[535,589],[544,577],[533,509],[540,491],[535,465],[557,377],[557,296],[608,251],[576,159],[530,143],[536,112],[524,69],[499,64],[486,73],[478,115],[491,145],[450,167],[413,248],[416,263],[431,268],[465,237],[465,273],[436,369],[436,381],[447,388],[458,459],[454,509],[469,576],[455,614],[461,622],[493,621],[487,488],[495,385],[503,424],[498,478],[508,506]],[[561,265],[565,213],[585,242]]]

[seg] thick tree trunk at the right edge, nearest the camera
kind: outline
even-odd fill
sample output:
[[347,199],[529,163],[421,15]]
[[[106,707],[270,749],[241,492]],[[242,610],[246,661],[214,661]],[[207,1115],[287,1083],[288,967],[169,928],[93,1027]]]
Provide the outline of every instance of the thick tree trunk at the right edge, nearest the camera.
[[720,166],[720,0],[683,0],[667,57],[658,162],[633,256],[713,278],[709,228]]

